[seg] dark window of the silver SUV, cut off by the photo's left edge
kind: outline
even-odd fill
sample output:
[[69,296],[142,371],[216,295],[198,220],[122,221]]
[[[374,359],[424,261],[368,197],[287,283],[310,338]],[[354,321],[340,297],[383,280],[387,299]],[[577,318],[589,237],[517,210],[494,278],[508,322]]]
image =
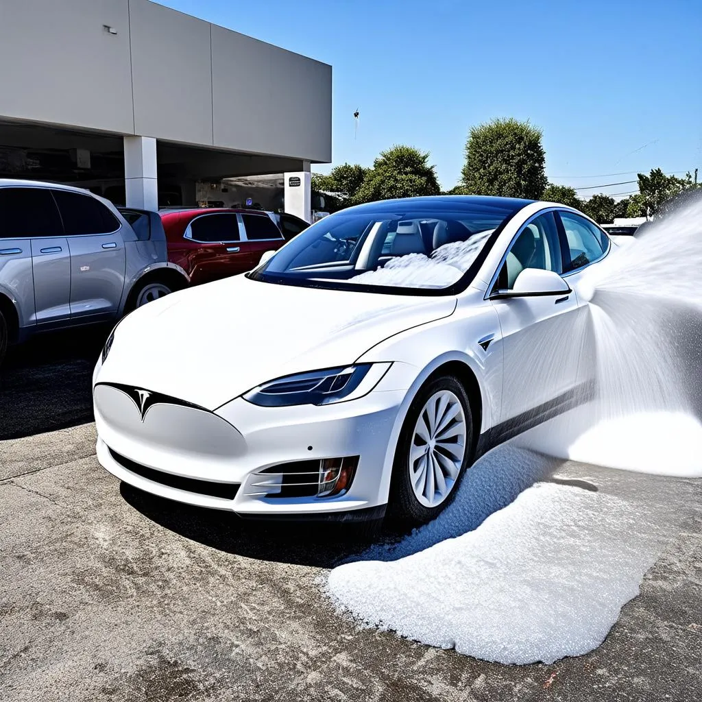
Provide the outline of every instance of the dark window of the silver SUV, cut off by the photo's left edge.
[[61,218],[50,190],[0,188],[0,239],[62,236]]

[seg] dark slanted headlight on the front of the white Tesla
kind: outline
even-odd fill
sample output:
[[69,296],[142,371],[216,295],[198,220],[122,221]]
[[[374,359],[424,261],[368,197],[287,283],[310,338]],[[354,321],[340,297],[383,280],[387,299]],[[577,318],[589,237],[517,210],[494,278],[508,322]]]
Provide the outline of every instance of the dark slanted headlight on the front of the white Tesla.
[[270,380],[242,397],[260,407],[331,404],[362,397],[378,385],[392,364],[362,363]]

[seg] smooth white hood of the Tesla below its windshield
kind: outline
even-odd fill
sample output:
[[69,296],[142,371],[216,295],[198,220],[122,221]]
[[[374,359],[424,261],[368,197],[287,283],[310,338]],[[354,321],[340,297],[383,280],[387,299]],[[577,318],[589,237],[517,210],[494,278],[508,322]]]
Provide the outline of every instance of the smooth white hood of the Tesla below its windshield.
[[455,309],[453,296],[323,290],[239,275],[129,314],[99,381],[216,409],[267,380],[352,364],[380,341]]

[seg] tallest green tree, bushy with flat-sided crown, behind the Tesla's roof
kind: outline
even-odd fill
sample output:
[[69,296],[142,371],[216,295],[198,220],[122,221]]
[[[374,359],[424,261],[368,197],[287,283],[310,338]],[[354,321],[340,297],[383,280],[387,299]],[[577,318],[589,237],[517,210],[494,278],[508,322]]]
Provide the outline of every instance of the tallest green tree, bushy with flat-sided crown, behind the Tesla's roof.
[[528,121],[494,119],[470,128],[463,185],[477,195],[541,199],[548,185],[541,130]]

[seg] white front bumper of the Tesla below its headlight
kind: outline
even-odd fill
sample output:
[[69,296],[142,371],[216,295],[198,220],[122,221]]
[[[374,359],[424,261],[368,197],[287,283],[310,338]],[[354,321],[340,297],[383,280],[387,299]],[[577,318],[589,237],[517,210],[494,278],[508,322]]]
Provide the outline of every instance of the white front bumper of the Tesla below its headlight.
[[[244,517],[345,518],[352,512],[372,517],[382,514],[380,508],[387,501],[393,436],[404,398],[402,390],[376,390],[349,402],[280,408],[258,407],[238,398],[214,412],[154,404],[142,418],[127,395],[98,385],[94,392],[98,461],[139,489]],[[360,457],[345,494],[331,498],[262,494],[261,470],[342,456]],[[139,468],[130,470],[130,462]],[[215,488],[202,489],[203,482]],[[223,496],[227,486],[234,489]]]

